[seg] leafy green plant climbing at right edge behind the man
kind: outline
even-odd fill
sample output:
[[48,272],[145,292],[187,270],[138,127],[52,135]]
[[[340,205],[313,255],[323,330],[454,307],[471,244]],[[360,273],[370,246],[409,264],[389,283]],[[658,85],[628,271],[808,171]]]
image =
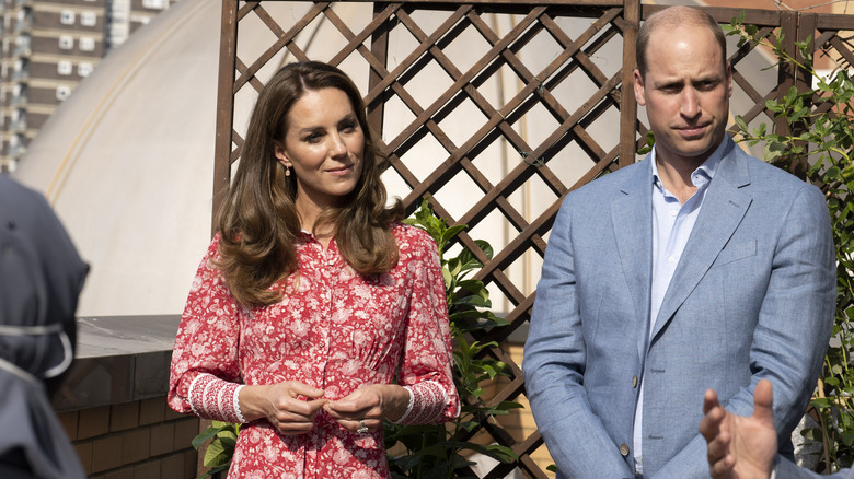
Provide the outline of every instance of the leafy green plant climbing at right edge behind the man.
[[801,91],[793,86],[783,100],[765,103],[777,119],[785,120],[785,131],[765,124],[751,131],[740,116],[736,124],[741,129],[741,141],[751,145],[764,142],[768,162],[803,174],[821,188],[828,200],[838,260],[836,312],[833,340],[811,401],[820,428],[807,429],[804,435],[821,444],[820,468],[849,467],[854,459],[854,367],[850,358],[854,347],[854,201],[850,195],[854,190],[854,85],[842,66],[827,77],[816,71],[809,38],[794,42],[795,58],[786,51],[782,33],[762,37],[757,26],[743,24],[743,12],[732,19],[727,31],[739,36],[739,47],[752,44],[770,48],[778,59],[777,66],[795,66],[816,85]]

